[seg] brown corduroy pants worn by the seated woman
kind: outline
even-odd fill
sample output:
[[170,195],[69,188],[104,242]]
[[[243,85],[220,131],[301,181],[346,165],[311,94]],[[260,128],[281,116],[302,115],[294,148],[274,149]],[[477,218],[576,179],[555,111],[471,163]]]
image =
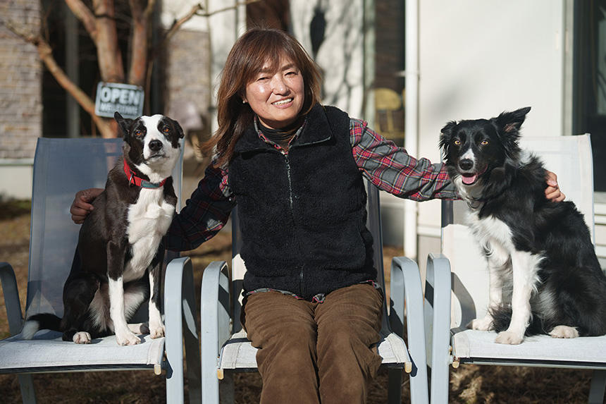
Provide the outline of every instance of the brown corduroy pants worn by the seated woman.
[[274,291],[249,295],[243,320],[259,348],[261,403],[366,403],[381,365],[382,305],[369,284],[335,290],[322,303]]

